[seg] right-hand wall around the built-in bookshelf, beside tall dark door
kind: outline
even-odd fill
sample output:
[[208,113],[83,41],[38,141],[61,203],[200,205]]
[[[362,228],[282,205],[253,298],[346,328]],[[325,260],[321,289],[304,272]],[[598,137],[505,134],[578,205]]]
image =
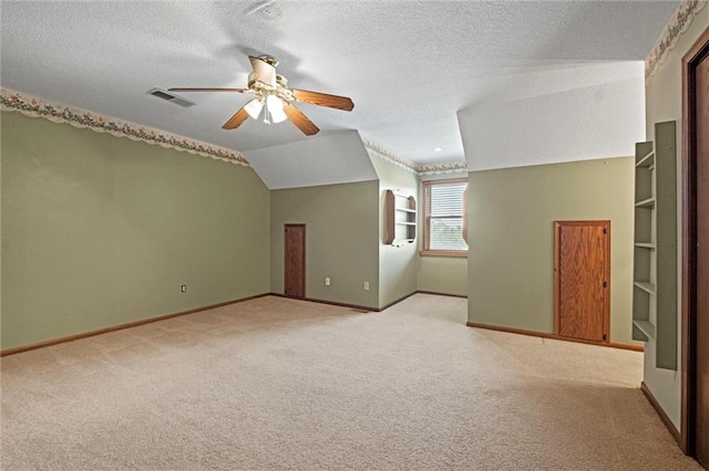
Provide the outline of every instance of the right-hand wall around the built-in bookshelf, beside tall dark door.
[[[672,19],[670,19],[672,20]],[[679,35],[677,43],[670,48],[660,65],[646,82],[646,126],[647,139],[655,138],[655,123],[677,121],[677,214],[682,213],[681,195],[681,125],[682,125],[682,56],[689,51],[701,33],[709,28],[709,8],[705,7],[692,20],[686,31]],[[681,216],[680,216],[681,218]],[[677,224],[677,263],[678,278],[681,278],[681,220]],[[681,290],[678,292],[681,294]],[[678,296],[677,312],[681,313],[681,295]],[[678,358],[681,353],[681,316],[677,316],[677,347]],[[644,381],[653,391],[653,396],[660,404],[672,423],[680,428],[681,410],[681,371],[671,371],[655,367],[655,342],[650,341],[645,347]]]

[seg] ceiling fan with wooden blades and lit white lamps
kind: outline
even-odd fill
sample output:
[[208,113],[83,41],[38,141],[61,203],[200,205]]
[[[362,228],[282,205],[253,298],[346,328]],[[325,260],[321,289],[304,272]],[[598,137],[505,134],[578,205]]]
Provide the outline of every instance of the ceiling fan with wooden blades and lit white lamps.
[[278,61],[270,55],[249,55],[254,72],[248,74],[247,88],[193,88],[176,87],[171,92],[236,92],[256,95],[244,105],[224,125],[224,129],[236,129],[249,116],[258,119],[264,112],[264,122],[280,123],[290,119],[305,135],[312,136],[320,129],[300,109],[295,102],[351,112],[354,104],[347,96],[329,95],[327,93],[308,92],[306,90],[288,88],[285,76],[276,73]]

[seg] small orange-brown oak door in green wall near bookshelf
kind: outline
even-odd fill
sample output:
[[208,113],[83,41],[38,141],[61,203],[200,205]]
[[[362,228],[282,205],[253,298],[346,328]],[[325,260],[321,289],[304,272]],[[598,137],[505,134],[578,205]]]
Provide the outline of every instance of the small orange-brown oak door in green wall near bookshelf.
[[609,342],[610,221],[554,223],[554,332]]

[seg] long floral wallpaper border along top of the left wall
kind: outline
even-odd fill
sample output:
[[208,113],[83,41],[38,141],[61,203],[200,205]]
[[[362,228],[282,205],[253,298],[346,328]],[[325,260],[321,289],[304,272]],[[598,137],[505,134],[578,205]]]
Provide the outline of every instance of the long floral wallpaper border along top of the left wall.
[[12,90],[0,88],[0,109],[22,113],[31,117],[42,117],[54,123],[68,123],[74,127],[88,128],[97,133],[109,133],[117,137],[127,137],[147,144],[209,157],[230,164],[248,166],[248,160],[238,151],[225,149],[169,134],[160,129],[109,118],[85,109],[49,103],[35,96]]

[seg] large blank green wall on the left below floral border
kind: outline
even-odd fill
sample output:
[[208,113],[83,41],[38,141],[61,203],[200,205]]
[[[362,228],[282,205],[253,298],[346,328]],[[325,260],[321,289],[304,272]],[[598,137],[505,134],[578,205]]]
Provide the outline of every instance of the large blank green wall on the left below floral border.
[[3,349],[269,291],[253,169],[17,113],[1,133]]

